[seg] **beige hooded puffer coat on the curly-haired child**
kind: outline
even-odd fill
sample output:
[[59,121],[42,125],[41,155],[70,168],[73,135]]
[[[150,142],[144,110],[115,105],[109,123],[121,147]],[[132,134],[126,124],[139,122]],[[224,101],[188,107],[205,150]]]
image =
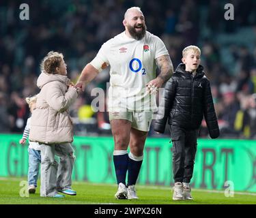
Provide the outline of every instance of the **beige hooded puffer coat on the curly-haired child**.
[[73,127],[68,108],[75,101],[77,92],[68,88],[70,80],[60,74],[42,72],[37,85],[41,89],[36,109],[31,116],[29,140],[44,144],[73,141]]

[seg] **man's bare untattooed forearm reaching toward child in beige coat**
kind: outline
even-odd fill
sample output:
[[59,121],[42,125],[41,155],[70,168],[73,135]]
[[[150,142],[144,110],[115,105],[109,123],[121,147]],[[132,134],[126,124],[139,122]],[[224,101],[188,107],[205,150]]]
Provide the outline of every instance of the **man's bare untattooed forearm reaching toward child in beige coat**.
[[91,82],[96,76],[98,75],[99,71],[96,69],[93,65],[88,63],[85,68],[83,68],[83,71],[81,72],[81,75],[79,76],[79,80],[77,81],[76,84],[79,82],[82,82],[83,84],[83,89],[84,87]]

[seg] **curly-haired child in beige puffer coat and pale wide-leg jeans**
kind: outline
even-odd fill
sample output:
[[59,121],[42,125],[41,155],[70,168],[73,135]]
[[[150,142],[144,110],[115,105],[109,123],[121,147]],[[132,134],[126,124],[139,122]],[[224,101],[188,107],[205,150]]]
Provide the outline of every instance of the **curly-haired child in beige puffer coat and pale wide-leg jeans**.
[[[37,81],[41,91],[31,116],[29,134],[29,140],[38,142],[41,149],[40,196],[63,198],[57,191],[75,196],[76,191],[71,189],[73,127],[68,108],[81,89],[70,83],[61,53],[48,52],[41,69]],[[60,157],[59,163],[55,154]]]

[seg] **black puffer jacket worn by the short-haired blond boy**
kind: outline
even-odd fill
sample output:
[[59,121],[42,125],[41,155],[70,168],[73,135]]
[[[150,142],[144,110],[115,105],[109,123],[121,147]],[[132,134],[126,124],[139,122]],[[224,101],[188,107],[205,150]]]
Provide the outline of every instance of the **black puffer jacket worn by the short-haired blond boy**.
[[199,65],[197,74],[185,71],[185,65],[178,65],[173,76],[165,85],[165,95],[160,99],[154,130],[165,131],[165,125],[175,125],[184,129],[199,129],[203,116],[211,138],[219,136],[210,82]]

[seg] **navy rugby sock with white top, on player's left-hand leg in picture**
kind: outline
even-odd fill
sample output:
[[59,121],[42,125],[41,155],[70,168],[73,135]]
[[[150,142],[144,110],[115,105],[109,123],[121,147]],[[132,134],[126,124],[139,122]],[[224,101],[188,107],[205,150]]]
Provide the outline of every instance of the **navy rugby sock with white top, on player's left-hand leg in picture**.
[[115,175],[117,176],[117,185],[124,183],[126,185],[126,172],[128,169],[128,152],[124,150],[115,150],[113,153],[115,165]]

